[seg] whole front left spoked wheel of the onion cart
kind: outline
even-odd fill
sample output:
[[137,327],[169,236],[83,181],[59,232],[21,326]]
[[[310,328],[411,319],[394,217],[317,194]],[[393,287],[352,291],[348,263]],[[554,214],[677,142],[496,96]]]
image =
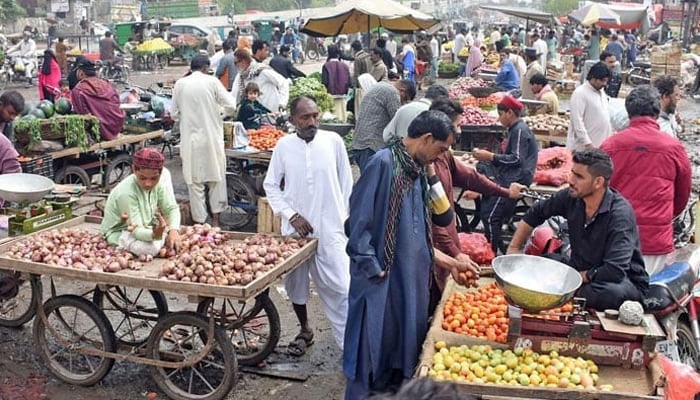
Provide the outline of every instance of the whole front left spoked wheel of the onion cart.
[[114,331],[107,317],[94,304],[75,295],[47,300],[44,313],[55,331],[47,329],[41,318],[34,321],[34,342],[44,365],[59,379],[73,385],[90,386],[104,378],[112,369],[114,359],[80,351],[116,352]]

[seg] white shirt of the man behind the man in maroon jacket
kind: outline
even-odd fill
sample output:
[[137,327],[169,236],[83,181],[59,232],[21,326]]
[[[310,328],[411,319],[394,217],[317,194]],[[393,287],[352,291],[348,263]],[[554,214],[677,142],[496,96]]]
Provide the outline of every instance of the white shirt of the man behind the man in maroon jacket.
[[608,95],[603,89],[595,90],[589,82],[574,90],[571,95],[571,123],[566,137],[566,147],[578,151],[586,145],[600,147],[612,134],[608,114]]

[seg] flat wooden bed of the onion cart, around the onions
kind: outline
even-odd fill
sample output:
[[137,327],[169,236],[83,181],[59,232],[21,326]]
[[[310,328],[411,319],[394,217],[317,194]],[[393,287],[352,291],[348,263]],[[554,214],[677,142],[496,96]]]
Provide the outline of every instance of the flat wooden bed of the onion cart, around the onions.
[[[94,232],[100,231],[101,218],[93,216],[81,216],[70,221],[56,225],[51,229],[61,228],[85,228]],[[253,233],[224,232],[234,241],[240,241],[253,236]],[[36,233],[32,234],[35,235]],[[31,235],[28,235],[31,236]],[[273,235],[276,236],[276,235]],[[23,239],[23,238],[20,238]],[[8,251],[15,241],[0,245],[0,268],[20,272],[28,272],[38,275],[50,275],[71,278],[84,282],[104,285],[120,285],[149,290],[162,290],[167,292],[195,295],[202,297],[227,297],[240,300],[248,300],[267,289],[273,282],[285,273],[293,270],[303,262],[316,254],[318,241],[309,240],[301,249],[295,252],[283,263],[267,271],[265,275],[253,280],[246,286],[220,286],[204,283],[180,282],[161,279],[159,277],[161,266],[166,259],[156,258],[150,263],[144,263],[140,270],[124,270],[117,273],[79,271],[72,268],[51,266],[43,263],[35,263],[28,260],[16,260],[1,256]]]

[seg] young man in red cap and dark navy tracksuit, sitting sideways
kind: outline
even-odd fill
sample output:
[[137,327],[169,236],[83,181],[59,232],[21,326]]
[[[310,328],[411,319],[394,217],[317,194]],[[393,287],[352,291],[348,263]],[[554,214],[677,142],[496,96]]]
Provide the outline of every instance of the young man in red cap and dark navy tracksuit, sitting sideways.
[[[523,105],[515,98],[506,96],[497,108],[499,122],[508,128],[505,150],[498,153],[476,150],[474,158],[480,161],[477,170],[506,188],[513,182],[530,186],[535,176],[539,146],[530,128],[520,119]],[[512,199],[493,196],[484,196],[481,201],[484,232],[494,252],[500,249],[505,254],[501,227],[513,216],[515,203]]]

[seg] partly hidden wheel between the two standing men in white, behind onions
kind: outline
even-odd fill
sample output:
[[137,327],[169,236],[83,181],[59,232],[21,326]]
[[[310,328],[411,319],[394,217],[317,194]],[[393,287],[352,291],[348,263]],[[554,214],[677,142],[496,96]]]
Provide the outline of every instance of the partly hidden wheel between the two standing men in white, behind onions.
[[251,183],[241,176],[226,176],[228,206],[221,213],[221,224],[228,229],[241,229],[257,215],[258,198]]

